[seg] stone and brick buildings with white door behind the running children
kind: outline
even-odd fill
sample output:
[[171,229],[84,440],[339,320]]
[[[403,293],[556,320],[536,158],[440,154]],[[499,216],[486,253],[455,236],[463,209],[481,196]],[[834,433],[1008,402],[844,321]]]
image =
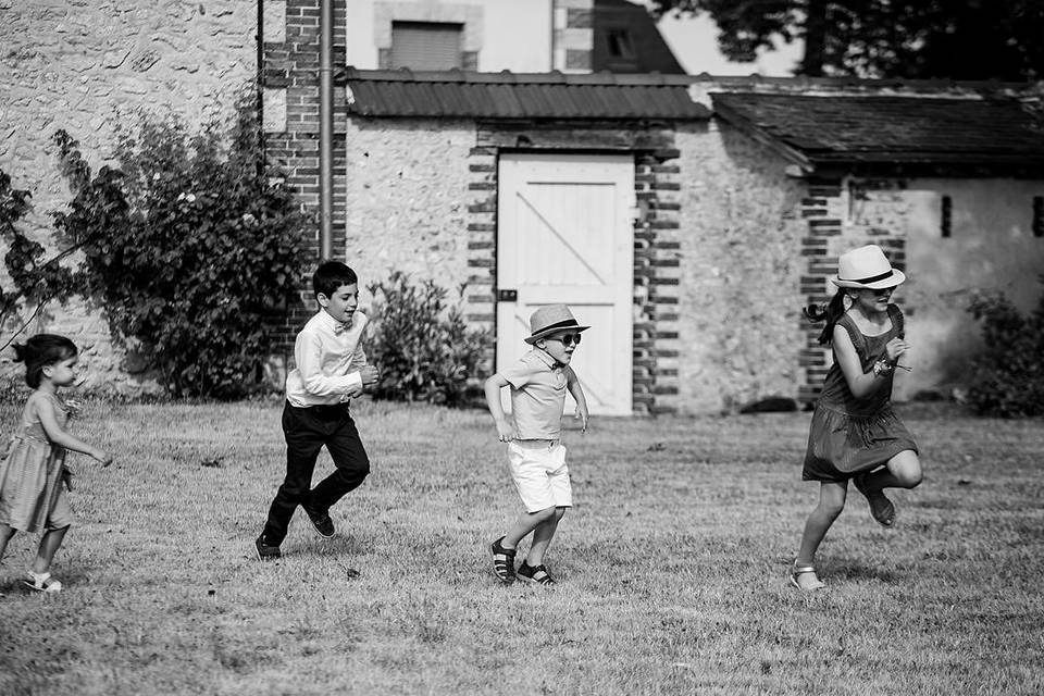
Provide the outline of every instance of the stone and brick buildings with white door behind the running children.
[[[37,23],[5,12],[52,36],[76,13],[50,7]],[[401,270],[463,286],[469,320],[496,332],[490,368],[522,348],[533,307],[569,301],[593,325],[577,362],[602,413],[808,401],[829,356],[800,309],[826,299],[837,253],[860,244],[880,244],[910,276],[897,298],[915,372],[897,381],[900,398],[959,385],[975,343],[971,293],[1003,289],[1026,308],[1041,289],[1033,86],[673,74],[655,28],[622,0],[533,0],[524,16],[511,0],[333,0],[328,58],[320,0],[263,0],[253,14],[206,7],[140,10],[162,16],[82,38],[73,58],[64,42],[12,37],[22,97],[4,104],[4,126],[21,132],[69,103],[69,129],[103,158],[113,105],[169,96],[178,110],[227,107],[223,90],[257,72],[269,153],[324,211],[316,257],[346,259],[362,285]],[[636,47],[659,58],[637,61]],[[32,50],[38,59],[16,57]],[[85,75],[74,59],[92,61]],[[79,77],[79,100],[45,88]],[[57,206],[47,135],[18,148],[9,136],[0,167]],[[282,327],[287,341],[310,311],[302,303]],[[48,321],[96,326],[75,311]],[[83,331],[109,355],[100,332]],[[117,358],[107,380],[124,378]]]

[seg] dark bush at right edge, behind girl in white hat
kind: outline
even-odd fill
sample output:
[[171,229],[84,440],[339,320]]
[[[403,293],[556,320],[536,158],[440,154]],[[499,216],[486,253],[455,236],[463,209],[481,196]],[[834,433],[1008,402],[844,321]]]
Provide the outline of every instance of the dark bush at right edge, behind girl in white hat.
[[968,311],[982,320],[985,344],[972,360],[969,405],[981,415],[1044,415],[1044,295],[1028,316],[1003,294],[978,297]]

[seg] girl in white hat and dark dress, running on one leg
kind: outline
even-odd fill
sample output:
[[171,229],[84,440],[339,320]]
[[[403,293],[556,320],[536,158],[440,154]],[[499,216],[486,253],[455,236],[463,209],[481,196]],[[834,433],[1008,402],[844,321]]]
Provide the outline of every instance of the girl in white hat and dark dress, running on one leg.
[[903,312],[888,300],[906,279],[880,247],[854,249],[837,260],[831,281],[840,289],[824,311],[820,344],[830,344],[834,364],[812,413],[801,478],[818,481],[819,505],[805,523],[791,583],[810,592],[824,586],[816,574],[816,551],[845,507],[848,480],[866,496],[879,524],[895,524],[895,506],[884,488],[912,488],[921,482],[917,444],[892,410],[892,377],[908,346]]

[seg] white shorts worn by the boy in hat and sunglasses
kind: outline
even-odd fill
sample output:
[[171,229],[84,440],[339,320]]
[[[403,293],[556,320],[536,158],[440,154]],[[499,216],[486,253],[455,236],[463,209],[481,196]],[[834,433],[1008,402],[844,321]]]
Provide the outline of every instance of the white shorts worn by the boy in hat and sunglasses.
[[508,467],[526,512],[572,507],[573,489],[561,442],[512,440],[508,443]]

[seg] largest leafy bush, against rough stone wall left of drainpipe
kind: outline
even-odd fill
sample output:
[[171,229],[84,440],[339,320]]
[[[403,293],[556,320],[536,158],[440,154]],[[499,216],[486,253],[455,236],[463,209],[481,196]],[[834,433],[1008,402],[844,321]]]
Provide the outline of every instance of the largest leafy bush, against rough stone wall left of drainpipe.
[[173,396],[260,388],[266,321],[298,296],[307,221],[263,162],[254,98],[199,134],[142,114],[120,134],[120,169],[94,176],[67,133],[54,142],[75,195],[55,226],[79,245],[85,291],[115,339],[142,346]]

